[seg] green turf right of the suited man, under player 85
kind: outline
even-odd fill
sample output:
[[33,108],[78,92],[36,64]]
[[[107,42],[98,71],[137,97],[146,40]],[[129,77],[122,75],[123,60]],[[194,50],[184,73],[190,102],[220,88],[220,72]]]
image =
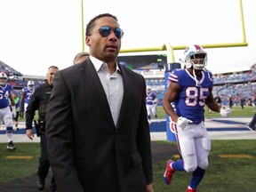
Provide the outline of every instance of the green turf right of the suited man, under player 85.
[[[170,147],[172,143],[167,143]],[[255,140],[212,140],[212,151],[209,156],[210,166],[198,191],[252,192],[256,188],[256,141]],[[175,160],[174,157],[171,156]],[[175,172],[172,184],[166,185],[163,180],[165,161],[154,164],[155,191],[186,191],[191,174]]]

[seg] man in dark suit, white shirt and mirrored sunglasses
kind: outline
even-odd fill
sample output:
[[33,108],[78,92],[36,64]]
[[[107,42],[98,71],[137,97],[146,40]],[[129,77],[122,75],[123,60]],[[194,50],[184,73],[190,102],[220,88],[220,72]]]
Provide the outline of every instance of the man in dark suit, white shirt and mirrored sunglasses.
[[116,16],[96,16],[89,59],[54,76],[46,135],[61,192],[153,192],[146,84],[116,62],[123,35]]

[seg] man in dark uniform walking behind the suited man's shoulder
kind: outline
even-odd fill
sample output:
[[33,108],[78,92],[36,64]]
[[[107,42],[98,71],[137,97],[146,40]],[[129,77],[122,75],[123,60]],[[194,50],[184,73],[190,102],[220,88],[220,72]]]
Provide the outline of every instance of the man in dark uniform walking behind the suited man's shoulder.
[[[38,180],[37,188],[43,190],[45,186],[45,178],[48,175],[50,169],[50,163],[47,153],[47,142],[45,137],[45,117],[47,114],[47,106],[51,96],[53,88],[53,77],[55,73],[59,70],[56,66],[51,66],[47,70],[46,80],[44,84],[36,87],[35,92],[30,95],[30,100],[28,102],[28,107],[26,110],[26,134],[30,140],[34,139],[33,132],[33,120],[38,110],[38,123],[35,123],[36,126],[36,135],[40,136],[40,146],[41,146],[41,156],[39,158],[39,165],[37,170]],[[51,191],[56,192],[57,186],[54,177],[52,176],[51,180]]]

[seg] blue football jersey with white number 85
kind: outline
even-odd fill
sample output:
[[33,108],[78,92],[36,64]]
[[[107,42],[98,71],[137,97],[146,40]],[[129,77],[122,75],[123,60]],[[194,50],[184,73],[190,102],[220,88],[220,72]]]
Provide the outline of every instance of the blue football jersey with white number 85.
[[213,80],[210,71],[202,71],[200,79],[191,76],[187,69],[174,69],[168,80],[180,84],[181,91],[172,102],[178,116],[186,117],[199,124],[204,120],[204,100],[210,95]]

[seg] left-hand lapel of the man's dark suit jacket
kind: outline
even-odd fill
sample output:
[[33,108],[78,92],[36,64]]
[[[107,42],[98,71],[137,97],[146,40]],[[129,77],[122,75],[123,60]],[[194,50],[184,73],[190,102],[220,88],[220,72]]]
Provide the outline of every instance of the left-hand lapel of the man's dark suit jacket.
[[85,60],[81,63],[81,75],[84,76],[85,84],[90,87],[96,102],[99,104],[101,110],[108,119],[109,124],[116,127],[108,105],[106,93],[104,92],[102,84],[100,83],[100,78],[91,60]]

